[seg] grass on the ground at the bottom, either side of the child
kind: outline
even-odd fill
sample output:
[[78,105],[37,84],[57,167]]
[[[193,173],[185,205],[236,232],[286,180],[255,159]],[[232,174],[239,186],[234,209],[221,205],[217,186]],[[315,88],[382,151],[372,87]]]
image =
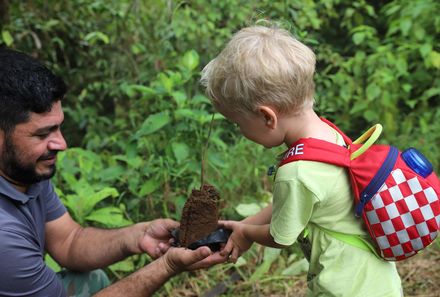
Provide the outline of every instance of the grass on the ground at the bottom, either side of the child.
[[[263,249],[253,247],[243,257],[241,265],[223,264],[209,270],[181,274],[169,281],[156,297],[281,297],[306,296],[306,273],[284,276],[282,271],[290,264],[289,253],[283,251],[270,269],[257,280],[252,275],[261,267]],[[291,255],[290,255],[291,257]],[[423,253],[397,263],[405,297],[440,297],[440,243],[436,242]]]

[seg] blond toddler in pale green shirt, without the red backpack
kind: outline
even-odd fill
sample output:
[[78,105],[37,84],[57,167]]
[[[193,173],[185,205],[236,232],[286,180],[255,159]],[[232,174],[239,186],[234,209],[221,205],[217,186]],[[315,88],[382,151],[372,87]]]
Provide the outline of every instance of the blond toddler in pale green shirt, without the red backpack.
[[[313,110],[314,72],[314,53],[288,31],[251,26],[237,32],[203,69],[201,82],[217,111],[266,148],[288,148],[308,137],[344,145]],[[241,222],[222,224],[233,230],[222,250],[232,261],[254,242],[284,248],[298,240],[310,263],[309,296],[401,296],[395,263],[325,232],[368,239],[354,216],[350,181],[342,167],[288,163],[277,170],[271,205]]]

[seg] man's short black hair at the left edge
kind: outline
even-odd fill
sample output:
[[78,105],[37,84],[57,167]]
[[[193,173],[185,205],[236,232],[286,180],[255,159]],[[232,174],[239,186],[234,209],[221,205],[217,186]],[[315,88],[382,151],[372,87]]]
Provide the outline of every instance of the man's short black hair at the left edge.
[[66,91],[62,78],[34,58],[0,48],[0,129],[4,132],[28,121],[30,112],[49,112]]

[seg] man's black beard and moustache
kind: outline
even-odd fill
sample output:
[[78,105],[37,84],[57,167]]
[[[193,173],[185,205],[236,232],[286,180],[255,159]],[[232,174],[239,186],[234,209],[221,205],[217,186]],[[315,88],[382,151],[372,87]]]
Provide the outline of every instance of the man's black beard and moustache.
[[[20,184],[31,185],[40,181],[50,179],[54,176],[56,167],[52,165],[52,170],[49,173],[38,174],[35,163],[26,163],[17,155],[18,148],[12,142],[11,137],[6,136],[4,142],[4,149],[0,156],[0,166],[3,173],[8,179]],[[39,160],[45,160],[56,156],[56,151],[49,151],[44,154]]]

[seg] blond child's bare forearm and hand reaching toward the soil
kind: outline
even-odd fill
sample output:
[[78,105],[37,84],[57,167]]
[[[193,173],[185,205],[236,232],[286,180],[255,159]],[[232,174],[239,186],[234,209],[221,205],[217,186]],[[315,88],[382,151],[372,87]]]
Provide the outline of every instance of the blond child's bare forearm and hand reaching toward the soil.
[[221,221],[220,224],[224,228],[232,230],[226,246],[220,252],[221,256],[229,254],[231,262],[235,263],[238,257],[247,251],[254,242],[275,248],[285,247],[274,241],[269,232],[269,224],[253,225],[236,221]]

